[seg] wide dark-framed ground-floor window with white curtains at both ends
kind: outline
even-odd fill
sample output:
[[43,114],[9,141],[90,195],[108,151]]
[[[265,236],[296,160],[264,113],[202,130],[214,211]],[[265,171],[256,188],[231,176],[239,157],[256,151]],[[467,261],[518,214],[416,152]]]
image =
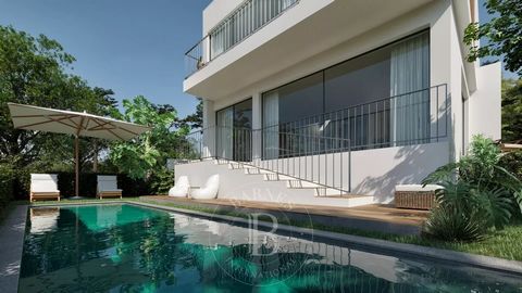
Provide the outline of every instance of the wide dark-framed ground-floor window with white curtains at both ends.
[[265,92],[264,157],[301,152],[285,133],[341,137],[353,149],[424,142],[428,87],[430,37],[423,31]]

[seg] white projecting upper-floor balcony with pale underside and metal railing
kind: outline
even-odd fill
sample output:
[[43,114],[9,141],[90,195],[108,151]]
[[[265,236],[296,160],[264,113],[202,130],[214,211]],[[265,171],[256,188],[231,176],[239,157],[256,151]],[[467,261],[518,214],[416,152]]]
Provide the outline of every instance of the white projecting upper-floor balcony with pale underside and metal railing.
[[[296,1],[254,33],[238,42],[231,41],[226,51],[212,49],[212,37],[206,37],[187,52],[187,73],[191,74],[184,80],[183,90],[219,101],[262,80],[290,81],[318,71],[319,63],[324,68],[407,36],[436,22],[442,10],[442,2],[434,0]],[[382,26],[391,21],[403,25]],[[225,22],[215,23],[209,33]]]

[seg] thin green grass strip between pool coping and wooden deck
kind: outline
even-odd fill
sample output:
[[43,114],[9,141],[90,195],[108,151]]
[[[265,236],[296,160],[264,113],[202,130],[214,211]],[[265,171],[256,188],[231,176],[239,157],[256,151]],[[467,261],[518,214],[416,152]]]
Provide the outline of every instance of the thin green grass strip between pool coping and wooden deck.
[[[138,198],[125,198],[124,201],[130,202],[141,202],[149,203],[154,205],[162,205],[174,208],[182,208],[188,211],[202,212],[208,214],[217,214],[224,216],[248,218],[248,214],[231,212],[231,211],[219,211],[204,206],[192,206],[192,205],[183,205],[176,203],[159,203],[157,201],[148,201]],[[117,200],[103,200],[102,202],[111,202]],[[35,206],[45,206],[49,204],[89,204],[89,203],[100,203],[100,200],[63,200],[61,202],[37,202],[33,203]],[[271,221],[270,218],[260,217],[260,220]],[[489,234],[483,241],[472,242],[472,243],[462,243],[462,242],[444,242],[433,239],[422,238],[420,235],[399,235],[391,233],[384,233],[378,231],[368,231],[361,229],[353,229],[339,226],[327,226],[319,222],[303,222],[303,221],[288,221],[288,219],[277,219],[279,224],[289,225],[300,228],[311,228],[323,231],[331,231],[344,234],[366,237],[373,239],[387,240],[398,243],[406,244],[415,244],[422,246],[430,246],[436,249],[451,250],[464,253],[472,253],[485,256],[500,257],[509,260],[520,260],[522,262],[522,221],[518,220],[517,222],[511,224],[501,231],[495,231]]]

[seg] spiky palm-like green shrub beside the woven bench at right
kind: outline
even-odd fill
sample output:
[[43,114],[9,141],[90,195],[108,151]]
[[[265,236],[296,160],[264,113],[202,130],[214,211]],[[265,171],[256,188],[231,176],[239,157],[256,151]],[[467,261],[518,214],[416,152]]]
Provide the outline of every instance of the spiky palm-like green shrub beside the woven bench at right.
[[[424,233],[444,240],[449,235],[455,241],[477,240],[490,229],[502,229],[513,213],[520,214],[522,183],[501,166],[501,157],[493,140],[476,136],[469,155],[427,176],[424,184],[437,183],[443,189],[436,191],[438,207],[430,215]],[[477,225],[471,221],[478,221],[483,229],[471,229]]]

